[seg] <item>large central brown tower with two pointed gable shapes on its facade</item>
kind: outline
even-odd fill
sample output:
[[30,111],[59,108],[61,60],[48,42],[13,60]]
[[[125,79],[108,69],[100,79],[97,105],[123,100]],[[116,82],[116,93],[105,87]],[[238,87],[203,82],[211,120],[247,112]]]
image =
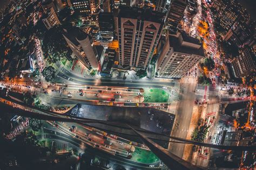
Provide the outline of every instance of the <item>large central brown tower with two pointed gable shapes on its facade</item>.
[[115,18],[120,65],[147,68],[164,25],[164,13],[120,7]]

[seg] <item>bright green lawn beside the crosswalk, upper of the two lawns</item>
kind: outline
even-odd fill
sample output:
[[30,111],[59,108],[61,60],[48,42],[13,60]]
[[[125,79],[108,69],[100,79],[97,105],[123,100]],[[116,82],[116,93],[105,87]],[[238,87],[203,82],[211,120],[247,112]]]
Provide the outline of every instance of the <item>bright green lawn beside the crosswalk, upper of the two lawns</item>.
[[144,88],[144,103],[166,103],[170,94],[163,89]]

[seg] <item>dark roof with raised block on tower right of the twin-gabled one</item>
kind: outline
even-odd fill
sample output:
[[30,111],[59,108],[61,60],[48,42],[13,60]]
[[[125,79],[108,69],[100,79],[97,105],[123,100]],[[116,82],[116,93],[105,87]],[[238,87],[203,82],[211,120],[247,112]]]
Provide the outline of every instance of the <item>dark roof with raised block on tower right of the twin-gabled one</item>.
[[[188,42],[197,46],[199,45],[200,47],[193,48],[192,46],[190,47],[190,46],[185,46],[181,44],[180,36],[183,38],[184,42]],[[179,36],[170,35],[169,42],[170,42],[170,46],[173,47],[174,52],[205,56],[204,47],[203,45],[200,44],[199,40],[196,38],[187,36],[185,32],[181,32]]]

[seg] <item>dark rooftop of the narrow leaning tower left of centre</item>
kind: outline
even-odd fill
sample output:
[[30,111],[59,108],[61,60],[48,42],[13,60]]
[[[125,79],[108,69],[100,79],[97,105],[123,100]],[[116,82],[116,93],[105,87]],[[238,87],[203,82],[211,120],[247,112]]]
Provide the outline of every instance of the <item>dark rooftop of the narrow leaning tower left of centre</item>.
[[71,29],[65,30],[64,36],[78,46],[79,42],[77,40],[84,40],[87,38],[88,34],[78,27],[72,27]]

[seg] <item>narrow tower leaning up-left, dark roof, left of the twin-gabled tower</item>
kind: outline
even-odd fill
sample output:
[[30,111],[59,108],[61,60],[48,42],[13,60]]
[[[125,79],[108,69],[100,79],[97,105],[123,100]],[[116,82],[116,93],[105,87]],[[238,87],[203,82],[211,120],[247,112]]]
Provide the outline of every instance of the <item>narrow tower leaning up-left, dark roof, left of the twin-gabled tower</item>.
[[63,36],[76,58],[87,69],[99,69],[99,57],[89,35],[77,27],[64,31]]

